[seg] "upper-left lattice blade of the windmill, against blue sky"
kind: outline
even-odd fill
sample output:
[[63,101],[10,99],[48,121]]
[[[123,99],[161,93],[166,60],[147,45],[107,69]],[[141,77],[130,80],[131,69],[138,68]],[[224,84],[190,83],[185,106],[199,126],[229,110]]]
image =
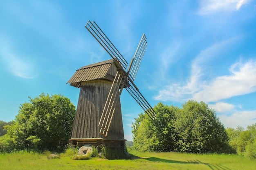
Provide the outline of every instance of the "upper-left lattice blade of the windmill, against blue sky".
[[127,68],[127,61],[120,54],[120,52],[111,43],[108,37],[101,31],[101,28],[93,21],[90,20],[86,23],[85,28],[92,34],[92,36],[101,44],[101,46],[115,59],[115,62],[121,66],[124,70]]

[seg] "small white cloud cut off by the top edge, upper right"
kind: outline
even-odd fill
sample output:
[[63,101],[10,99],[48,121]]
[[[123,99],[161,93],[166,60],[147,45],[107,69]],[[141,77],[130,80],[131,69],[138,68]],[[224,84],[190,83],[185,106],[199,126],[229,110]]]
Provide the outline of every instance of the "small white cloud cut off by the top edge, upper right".
[[218,11],[237,11],[250,0],[200,0],[199,13],[202,15]]

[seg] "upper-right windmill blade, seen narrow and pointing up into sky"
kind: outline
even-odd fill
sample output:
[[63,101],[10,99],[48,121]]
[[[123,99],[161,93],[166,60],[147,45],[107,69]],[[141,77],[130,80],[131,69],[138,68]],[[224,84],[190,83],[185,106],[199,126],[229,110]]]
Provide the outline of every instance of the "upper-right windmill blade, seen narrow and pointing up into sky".
[[135,77],[137,75],[139,65],[141,63],[142,57],[144,55],[144,52],[147,47],[147,38],[145,34],[142,35],[141,40],[139,41],[139,45],[137,47],[137,50],[134,54],[134,57],[132,58],[132,61],[130,63],[130,66],[128,68],[128,73],[133,81],[135,81]]

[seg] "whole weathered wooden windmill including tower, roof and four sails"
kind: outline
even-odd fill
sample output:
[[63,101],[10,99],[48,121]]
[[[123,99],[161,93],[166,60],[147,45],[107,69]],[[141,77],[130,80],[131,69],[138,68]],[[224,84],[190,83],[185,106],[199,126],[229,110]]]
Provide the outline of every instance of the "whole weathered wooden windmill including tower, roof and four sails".
[[119,97],[124,88],[152,120],[156,116],[153,108],[133,82],[147,46],[146,36],[142,35],[128,67],[127,61],[95,22],[89,20],[85,28],[112,59],[76,70],[67,82],[81,88],[70,141],[79,146],[85,144],[95,146],[105,144],[112,148],[125,146]]

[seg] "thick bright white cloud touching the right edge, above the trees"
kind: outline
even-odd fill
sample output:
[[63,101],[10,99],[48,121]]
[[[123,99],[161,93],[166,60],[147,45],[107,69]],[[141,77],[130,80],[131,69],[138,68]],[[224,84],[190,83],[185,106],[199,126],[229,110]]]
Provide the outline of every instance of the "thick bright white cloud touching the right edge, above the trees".
[[229,75],[217,77],[204,85],[193,99],[211,102],[256,92],[256,61],[239,61],[231,65],[229,71]]

